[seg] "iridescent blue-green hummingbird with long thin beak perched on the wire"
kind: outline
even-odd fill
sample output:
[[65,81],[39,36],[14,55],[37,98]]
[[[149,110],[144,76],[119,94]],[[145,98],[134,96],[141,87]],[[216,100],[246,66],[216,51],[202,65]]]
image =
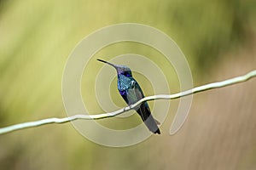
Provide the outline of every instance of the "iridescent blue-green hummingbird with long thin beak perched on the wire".
[[[132,77],[131,69],[125,65],[113,65],[108,61],[97,59],[103,63],[113,66],[117,71],[117,86],[119,89],[119,94],[125,99],[127,105],[135,104],[138,100],[144,98],[143,90],[138,84],[138,82]],[[160,122],[156,121],[151,115],[148,103],[143,102],[141,105],[135,108],[139,116],[142,117],[143,122],[146,124],[148,129],[152,133],[159,133],[160,129],[157,124]]]

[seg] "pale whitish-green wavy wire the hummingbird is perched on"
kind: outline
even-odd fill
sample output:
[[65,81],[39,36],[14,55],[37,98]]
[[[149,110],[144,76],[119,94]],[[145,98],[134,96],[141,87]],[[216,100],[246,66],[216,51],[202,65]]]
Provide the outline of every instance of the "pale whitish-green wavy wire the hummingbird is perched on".
[[112,116],[117,116],[121,113],[124,113],[125,111],[130,111],[133,108],[135,108],[137,105],[140,105],[144,101],[149,101],[149,100],[155,100],[155,99],[177,99],[181,98],[183,96],[187,96],[189,94],[195,94],[198,92],[206,91],[212,88],[223,88],[225,86],[230,86],[232,84],[236,84],[239,82],[246,82],[247,80],[256,77],[256,70],[255,71],[250,71],[246,75],[243,75],[241,77],[234,77],[222,82],[212,82],[206,85],[202,85],[200,87],[192,88],[177,94],[160,94],[160,95],[154,95],[154,96],[148,96],[145,97],[141,100],[139,100],[136,104],[134,105],[129,105],[123,109],[120,109],[119,111],[113,111],[110,113],[103,113],[103,114],[98,114],[98,115],[75,115],[75,116],[69,116],[69,117],[64,117],[64,118],[48,118],[48,119],[42,119],[39,121],[34,121],[34,122],[22,122],[19,124],[15,124],[9,127],[2,127],[0,128],[0,134],[3,133],[10,133],[16,130],[28,128],[28,127],[38,127],[42,126],[45,124],[50,124],[50,123],[65,123],[65,122],[72,122],[78,119],[85,119],[85,120],[96,120],[96,119],[103,119],[103,118],[108,118]]

